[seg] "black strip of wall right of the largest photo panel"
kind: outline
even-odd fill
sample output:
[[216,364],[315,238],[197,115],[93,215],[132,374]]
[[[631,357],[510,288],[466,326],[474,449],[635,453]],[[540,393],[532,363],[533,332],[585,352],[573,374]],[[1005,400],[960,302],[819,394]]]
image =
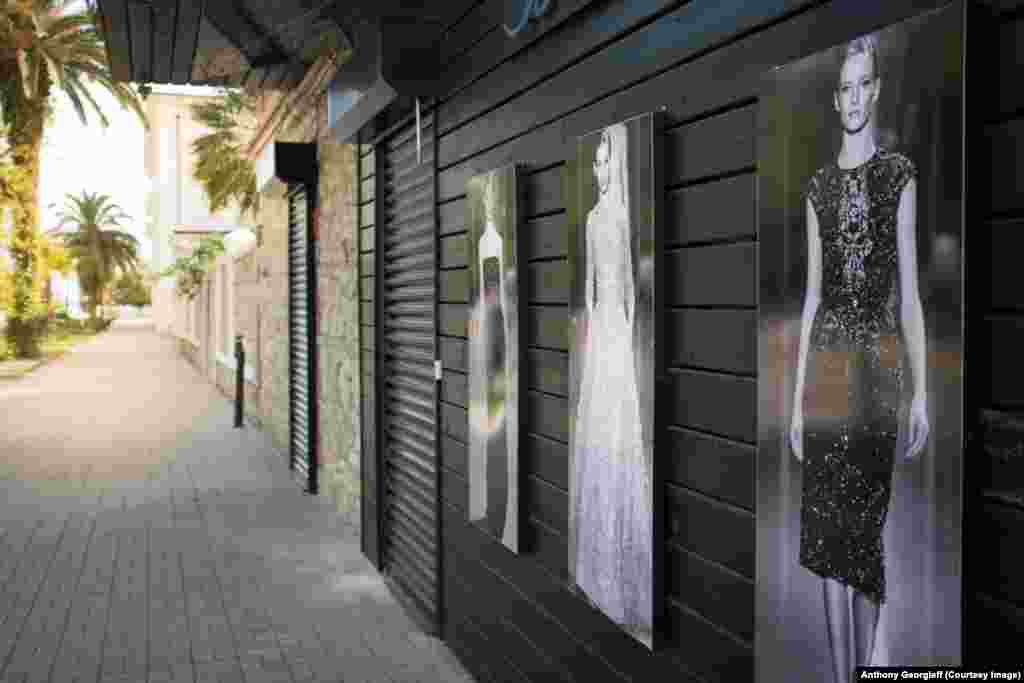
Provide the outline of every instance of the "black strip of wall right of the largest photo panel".
[[991,32],[969,43],[988,69],[969,85],[983,130],[968,139],[977,152],[968,193],[977,200],[978,215],[968,225],[974,312],[966,377],[982,420],[967,452],[965,647],[979,664],[1019,665],[1024,661],[1024,424],[1019,420],[1024,287],[1018,259],[1024,247],[1024,1],[989,4]]

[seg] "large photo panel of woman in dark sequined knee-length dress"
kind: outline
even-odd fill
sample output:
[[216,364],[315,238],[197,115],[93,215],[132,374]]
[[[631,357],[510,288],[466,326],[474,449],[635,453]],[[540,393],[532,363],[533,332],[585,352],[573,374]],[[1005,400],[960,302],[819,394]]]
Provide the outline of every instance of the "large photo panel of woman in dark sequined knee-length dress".
[[760,104],[757,679],[961,664],[963,6]]

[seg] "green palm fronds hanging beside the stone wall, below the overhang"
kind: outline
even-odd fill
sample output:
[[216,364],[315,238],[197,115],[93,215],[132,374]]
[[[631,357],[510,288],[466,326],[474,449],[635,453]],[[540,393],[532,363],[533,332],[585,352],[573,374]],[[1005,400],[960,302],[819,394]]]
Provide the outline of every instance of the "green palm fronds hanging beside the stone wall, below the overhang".
[[253,132],[245,124],[255,119],[255,101],[242,92],[225,90],[221,97],[194,104],[191,111],[193,118],[212,131],[193,142],[193,177],[202,185],[210,212],[233,203],[242,213],[255,214],[260,204],[256,164],[244,153]]

